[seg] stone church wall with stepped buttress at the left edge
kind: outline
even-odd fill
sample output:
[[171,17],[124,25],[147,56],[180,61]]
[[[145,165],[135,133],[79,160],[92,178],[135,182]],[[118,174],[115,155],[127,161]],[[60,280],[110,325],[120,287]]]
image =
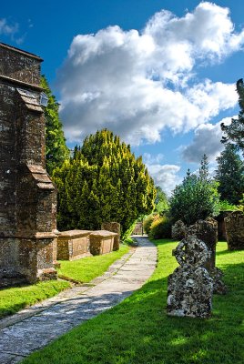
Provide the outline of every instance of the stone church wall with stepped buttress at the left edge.
[[0,43],[0,287],[56,278],[56,189],[45,170],[41,62]]

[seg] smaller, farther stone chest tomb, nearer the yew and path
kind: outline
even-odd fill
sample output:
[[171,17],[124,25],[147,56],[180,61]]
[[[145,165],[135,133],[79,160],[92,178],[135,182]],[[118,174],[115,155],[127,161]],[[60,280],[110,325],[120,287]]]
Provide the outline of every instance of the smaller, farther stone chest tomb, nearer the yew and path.
[[116,233],[107,230],[97,230],[90,234],[90,252],[92,255],[102,255],[110,253],[114,248]]

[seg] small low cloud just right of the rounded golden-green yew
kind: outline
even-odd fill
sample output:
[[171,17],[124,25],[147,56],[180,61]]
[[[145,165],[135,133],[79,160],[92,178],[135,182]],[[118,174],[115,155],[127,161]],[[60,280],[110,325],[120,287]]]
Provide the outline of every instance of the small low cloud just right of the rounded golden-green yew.
[[172,190],[182,181],[182,178],[178,176],[180,167],[176,165],[162,165],[160,164],[162,159],[163,156],[161,154],[151,156],[149,153],[144,153],[143,155],[143,161],[150,176],[153,177],[155,185],[160,186],[170,196]]

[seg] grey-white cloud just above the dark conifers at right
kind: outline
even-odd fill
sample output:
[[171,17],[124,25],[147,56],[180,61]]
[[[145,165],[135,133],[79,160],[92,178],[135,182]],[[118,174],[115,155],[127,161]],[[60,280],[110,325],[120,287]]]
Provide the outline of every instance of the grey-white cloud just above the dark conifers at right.
[[225,117],[216,125],[199,125],[195,130],[192,143],[188,147],[183,148],[182,157],[187,162],[198,163],[203,155],[206,154],[210,162],[215,161],[216,157],[219,156],[224,148],[220,142],[223,135],[220,124],[224,123],[225,125],[229,125],[230,122],[231,117]]

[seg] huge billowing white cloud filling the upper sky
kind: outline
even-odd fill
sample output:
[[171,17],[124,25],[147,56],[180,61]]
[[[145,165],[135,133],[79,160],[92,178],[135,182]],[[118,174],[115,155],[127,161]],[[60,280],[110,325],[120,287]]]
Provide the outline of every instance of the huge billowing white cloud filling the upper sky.
[[177,17],[162,10],[142,32],[109,26],[76,35],[57,86],[68,141],[107,127],[128,143],[154,143],[164,128],[187,132],[237,103],[235,85],[199,83],[209,66],[241,49],[229,9],[200,3]]

